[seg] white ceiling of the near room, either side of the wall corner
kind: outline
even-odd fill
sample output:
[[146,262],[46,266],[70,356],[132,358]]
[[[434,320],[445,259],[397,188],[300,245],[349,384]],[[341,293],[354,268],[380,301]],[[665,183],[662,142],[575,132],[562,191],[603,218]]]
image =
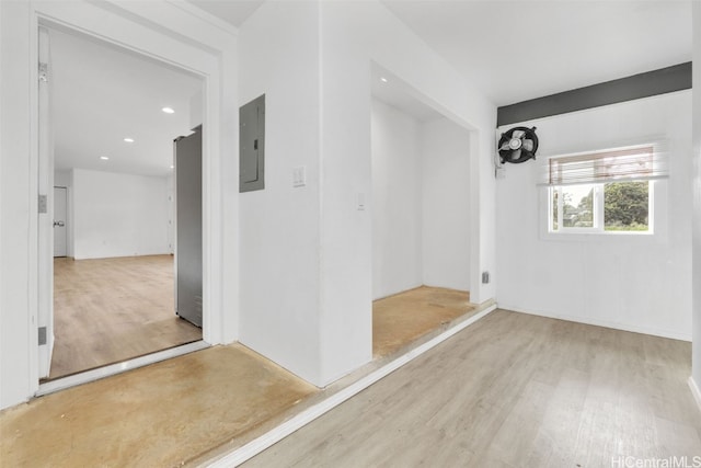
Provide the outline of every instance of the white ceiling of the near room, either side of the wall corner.
[[[263,3],[189,1],[237,27]],[[499,106],[691,60],[691,0],[380,1]]]

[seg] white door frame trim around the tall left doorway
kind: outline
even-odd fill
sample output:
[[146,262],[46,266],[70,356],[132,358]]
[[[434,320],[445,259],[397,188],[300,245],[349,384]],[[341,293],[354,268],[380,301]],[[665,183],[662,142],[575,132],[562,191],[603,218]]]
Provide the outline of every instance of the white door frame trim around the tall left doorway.
[[[189,10],[189,11],[188,11]],[[227,209],[235,215],[223,216],[225,180],[238,180],[238,164],[223,153],[237,155],[238,109],[235,94],[235,30],[217,23],[214,18],[203,20],[195,7],[170,2],[115,2],[95,4],[89,2],[32,2],[30,12],[30,64],[38,62],[38,28],[41,25],[58,30],[72,30],[97,37],[118,47],[197,75],[203,79],[203,340],[208,344],[229,343],[237,339],[238,330],[238,269],[227,267],[227,261],[238,258],[237,246],[225,244],[225,230],[238,238],[238,197],[227,199]],[[198,10],[197,10],[198,11]],[[199,18],[197,18],[199,16]],[[212,22],[217,27],[211,27]],[[181,32],[183,24],[192,26]],[[185,38],[183,38],[185,37]],[[31,79],[38,81],[37,67]],[[221,83],[227,85],[222,87]],[[30,87],[30,134],[34,141],[30,155],[30,201],[37,207],[38,186],[38,87]],[[233,134],[222,133],[222,124]],[[223,178],[222,170],[230,174]],[[37,213],[37,210],[34,210]],[[46,241],[39,238],[38,216],[30,216],[30,246]],[[33,239],[32,239],[33,238]],[[34,240],[34,241],[33,241]],[[50,256],[50,258],[49,258]],[[32,260],[34,259],[34,260]],[[30,251],[30,308],[27,313],[27,377],[30,390],[38,390],[38,333],[41,274],[49,269],[51,255],[39,254],[36,247]],[[226,273],[226,277],[225,277]],[[227,290],[223,284],[231,285]],[[53,292],[50,292],[53,295]],[[32,297],[34,299],[32,299]],[[53,299],[51,299],[53,300]],[[45,301],[46,303],[46,301]],[[228,310],[225,316],[223,311]],[[231,316],[234,320],[231,320]],[[28,397],[28,396],[27,396]]]

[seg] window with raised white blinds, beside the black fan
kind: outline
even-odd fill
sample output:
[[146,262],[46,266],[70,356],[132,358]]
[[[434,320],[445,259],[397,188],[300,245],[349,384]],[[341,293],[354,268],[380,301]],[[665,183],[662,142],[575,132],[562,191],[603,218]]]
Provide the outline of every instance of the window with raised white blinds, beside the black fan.
[[547,171],[549,232],[653,233],[654,180],[667,176],[658,146],[550,158]]

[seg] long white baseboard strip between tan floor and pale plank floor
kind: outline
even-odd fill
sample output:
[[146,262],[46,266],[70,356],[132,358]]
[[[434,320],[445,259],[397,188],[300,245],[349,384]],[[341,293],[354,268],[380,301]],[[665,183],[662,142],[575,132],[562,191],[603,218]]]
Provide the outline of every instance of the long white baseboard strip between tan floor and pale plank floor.
[[347,399],[365,390],[376,381],[393,373],[404,364],[424,354],[432,347],[446,341],[447,339],[458,333],[459,331],[463,330],[464,328],[469,327],[470,324],[476,322],[478,320],[480,320],[481,318],[483,318],[494,309],[496,309],[496,305],[492,305],[485,310],[482,310],[481,312],[470,317],[469,319],[460,323],[457,323],[455,327],[446,330],[445,332],[440,333],[434,339],[427,341],[426,343],[413,350],[410,350],[409,352],[399,356],[394,361],[368,374],[367,376],[360,378],[359,380],[340,390],[338,392],[330,396],[329,398],[314,404],[313,407],[308,408],[307,410],[285,421],[284,423],[268,431],[262,436],[251,441],[250,443],[239,448],[232,449],[229,453],[219,456],[219,458],[215,460],[205,463],[202,466],[209,467],[209,468],[231,468],[231,467],[235,467],[243,464],[248,459],[253,458],[261,452],[265,450],[266,448],[271,447],[272,445],[287,437],[292,432],[309,424],[317,418],[323,415],[324,413],[331,411],[332,409],[343,403]]

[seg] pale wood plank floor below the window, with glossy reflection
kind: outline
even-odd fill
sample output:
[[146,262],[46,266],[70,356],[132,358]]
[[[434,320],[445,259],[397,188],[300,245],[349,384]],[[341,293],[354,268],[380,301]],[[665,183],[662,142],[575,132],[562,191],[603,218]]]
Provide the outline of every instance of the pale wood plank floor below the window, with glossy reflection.
[[687,342],[497,310],[244,466],[691,464],[690,357]]

